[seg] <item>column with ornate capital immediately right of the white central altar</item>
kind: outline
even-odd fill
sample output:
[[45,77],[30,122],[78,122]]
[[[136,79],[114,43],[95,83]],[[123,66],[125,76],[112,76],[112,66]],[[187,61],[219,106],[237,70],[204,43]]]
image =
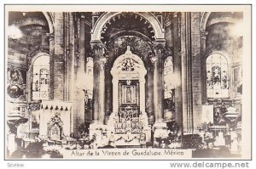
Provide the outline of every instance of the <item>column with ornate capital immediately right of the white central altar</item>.
[[154,45],[154,56],[151,61],[154,65],[154,138],[166,137],[166,122],[163,120],[164,102],[164,78],[163,78],[163,57],[165,43],[158,42]]

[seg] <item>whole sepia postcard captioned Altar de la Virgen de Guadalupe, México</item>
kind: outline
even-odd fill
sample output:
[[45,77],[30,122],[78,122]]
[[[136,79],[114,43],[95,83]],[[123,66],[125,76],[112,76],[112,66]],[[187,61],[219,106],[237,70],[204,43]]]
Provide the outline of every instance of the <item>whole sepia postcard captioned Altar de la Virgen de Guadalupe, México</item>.
[[5,5],[5,160],[250,160],[251,5]]

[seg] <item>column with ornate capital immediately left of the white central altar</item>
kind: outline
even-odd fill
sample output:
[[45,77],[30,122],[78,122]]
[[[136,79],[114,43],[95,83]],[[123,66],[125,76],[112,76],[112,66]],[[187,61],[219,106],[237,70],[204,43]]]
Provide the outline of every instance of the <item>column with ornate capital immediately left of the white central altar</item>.
[[91,48],[94,52],[94,67],[93,67],[93,122],[90,124],[90,137],[96,134],[96,138],[101,136],[104,126],[105,115],[105,57],[106,47],[102,42],[91,43]]

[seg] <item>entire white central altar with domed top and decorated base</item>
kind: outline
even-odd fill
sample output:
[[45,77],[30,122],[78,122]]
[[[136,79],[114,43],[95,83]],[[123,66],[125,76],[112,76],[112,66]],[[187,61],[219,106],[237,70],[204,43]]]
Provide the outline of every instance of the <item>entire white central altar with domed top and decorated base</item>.
[[143,60],[132,54],[129,46],[113,63],[113,113],[108,127],[116,145],[139,145],[151,138],[145,112],[146,74]]

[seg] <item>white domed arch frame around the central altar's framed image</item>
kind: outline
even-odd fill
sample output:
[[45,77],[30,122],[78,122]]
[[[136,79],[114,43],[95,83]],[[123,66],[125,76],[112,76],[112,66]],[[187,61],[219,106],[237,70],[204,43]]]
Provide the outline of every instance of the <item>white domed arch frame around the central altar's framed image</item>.
[[122,54],[113,63],[110,71],[113,76],[113,113],[119,111],[119,81],[139,81],[139,107],[142,113],[145,112],[145,76],[147,70],[143,64],[143,60],[136,54],[132,54],[130,46],[127,47],[125,54]]

